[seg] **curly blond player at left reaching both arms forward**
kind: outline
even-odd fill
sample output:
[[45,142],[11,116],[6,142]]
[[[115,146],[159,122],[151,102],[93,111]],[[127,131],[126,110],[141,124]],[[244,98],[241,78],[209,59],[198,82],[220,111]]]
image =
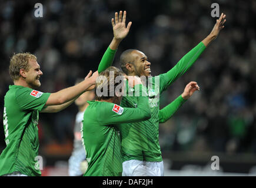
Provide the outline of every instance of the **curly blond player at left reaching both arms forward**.
[[98,72],[90,71],[84,81],[55,93],[35,90],[41,86],[42,71],[31,53],[12,56],[9,73],[14,85],[4,99],[6,147],[0,156],[0,176],[41,176],[38,156],[38,112],[59,112],[95,85]]

